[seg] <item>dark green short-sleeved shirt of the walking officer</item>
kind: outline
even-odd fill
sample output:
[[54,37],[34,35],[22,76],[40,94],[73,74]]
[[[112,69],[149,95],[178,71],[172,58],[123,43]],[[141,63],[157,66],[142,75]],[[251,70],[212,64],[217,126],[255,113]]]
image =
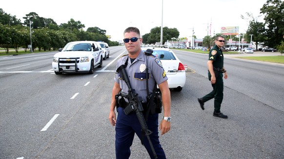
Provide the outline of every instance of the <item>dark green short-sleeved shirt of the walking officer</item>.
[[213,60],[213,67],[222,69],[224,64],[222,49],[214,45],[209,51],[209,60]]

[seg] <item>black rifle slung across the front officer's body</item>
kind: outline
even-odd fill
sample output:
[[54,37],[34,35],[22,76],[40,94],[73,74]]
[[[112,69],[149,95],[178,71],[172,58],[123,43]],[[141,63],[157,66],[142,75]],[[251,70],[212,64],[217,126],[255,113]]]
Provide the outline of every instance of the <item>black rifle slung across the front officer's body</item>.
[[[142,113],[142,111],[143,111],[143,107],[142,107],[142,103],[141,103],[142,98],[138,97],[138,94],[134,93],[134,89],[132,89],[132,87],[130,85],[128,75],[127,75],[127,72],[125,70],[125,65],[121,65],[116,70],[116,72],[120,73],[122,80],[124,80],[126,85],[128,86],[128,94],[122,93],[122,97],[127,98],[128,101],[129,101],[129,105],[127,107],[125,107],[124,113],[127,115],[130,112],[135,111],[136,116],[138,118],[138,121],[141,125],[142,133],[145,133],[145,136],[147,137],[147,139],[149,141],[149,144],[150,144],[150,147],[152,149],[154,158],[158,159],[157,154],[155,152],[155,149],[153,147],[153,144],[151,142],[151,139],[149,137],[149,135],[152,134],[152,132],[150,130],[148,130],[147,123],[146,123],[144,116],[143,116],[143,113]],[[141,142],[143,144],[143,141],[141,141]]]

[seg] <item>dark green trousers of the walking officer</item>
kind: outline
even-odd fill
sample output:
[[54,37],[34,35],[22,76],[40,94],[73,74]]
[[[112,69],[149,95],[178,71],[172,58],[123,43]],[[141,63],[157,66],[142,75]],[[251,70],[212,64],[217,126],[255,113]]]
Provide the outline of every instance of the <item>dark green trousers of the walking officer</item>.
[[[211,80],[211,75],[208,73],[208,79]],[[223,74],[220,72],[218,75],[218,78],[216,78],[216,83],[212,84],[213,91],[205,95],[202,100],[203,102],[206,102],[210,99],[214,98],[214,111],[216,113],[220,112],[221,103],[223,101]]]

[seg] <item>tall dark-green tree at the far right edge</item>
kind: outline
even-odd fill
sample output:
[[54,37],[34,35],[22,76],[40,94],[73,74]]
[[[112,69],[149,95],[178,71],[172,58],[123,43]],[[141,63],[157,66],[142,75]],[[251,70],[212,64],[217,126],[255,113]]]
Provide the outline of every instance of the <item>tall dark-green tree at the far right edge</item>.
[[267,0],[260,10],[260,13],[264,14],[265,26],[268,28],[264,44],[268,47],[280,45],[284,35],[284,1]]

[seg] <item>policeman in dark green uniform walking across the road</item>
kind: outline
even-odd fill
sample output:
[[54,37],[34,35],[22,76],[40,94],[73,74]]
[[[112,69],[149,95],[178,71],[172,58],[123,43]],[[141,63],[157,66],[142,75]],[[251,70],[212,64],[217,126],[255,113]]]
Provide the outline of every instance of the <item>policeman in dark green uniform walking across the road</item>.
[[205,95],[203,98],[198,98],[201,108],[204,110],[204,102],[214,98],[214,117],[228,118],[228,116],[221,113],[221,103],[223,101],[223,74],[224,79],[228,78],[227,71],[225,70],[224,57],[222,47],[224,46],[223,36],[217,36],[215,38],[215,45],[209,51],[209,60],[207,62],[208,67],[208,79],[211,81],[213,91]]

